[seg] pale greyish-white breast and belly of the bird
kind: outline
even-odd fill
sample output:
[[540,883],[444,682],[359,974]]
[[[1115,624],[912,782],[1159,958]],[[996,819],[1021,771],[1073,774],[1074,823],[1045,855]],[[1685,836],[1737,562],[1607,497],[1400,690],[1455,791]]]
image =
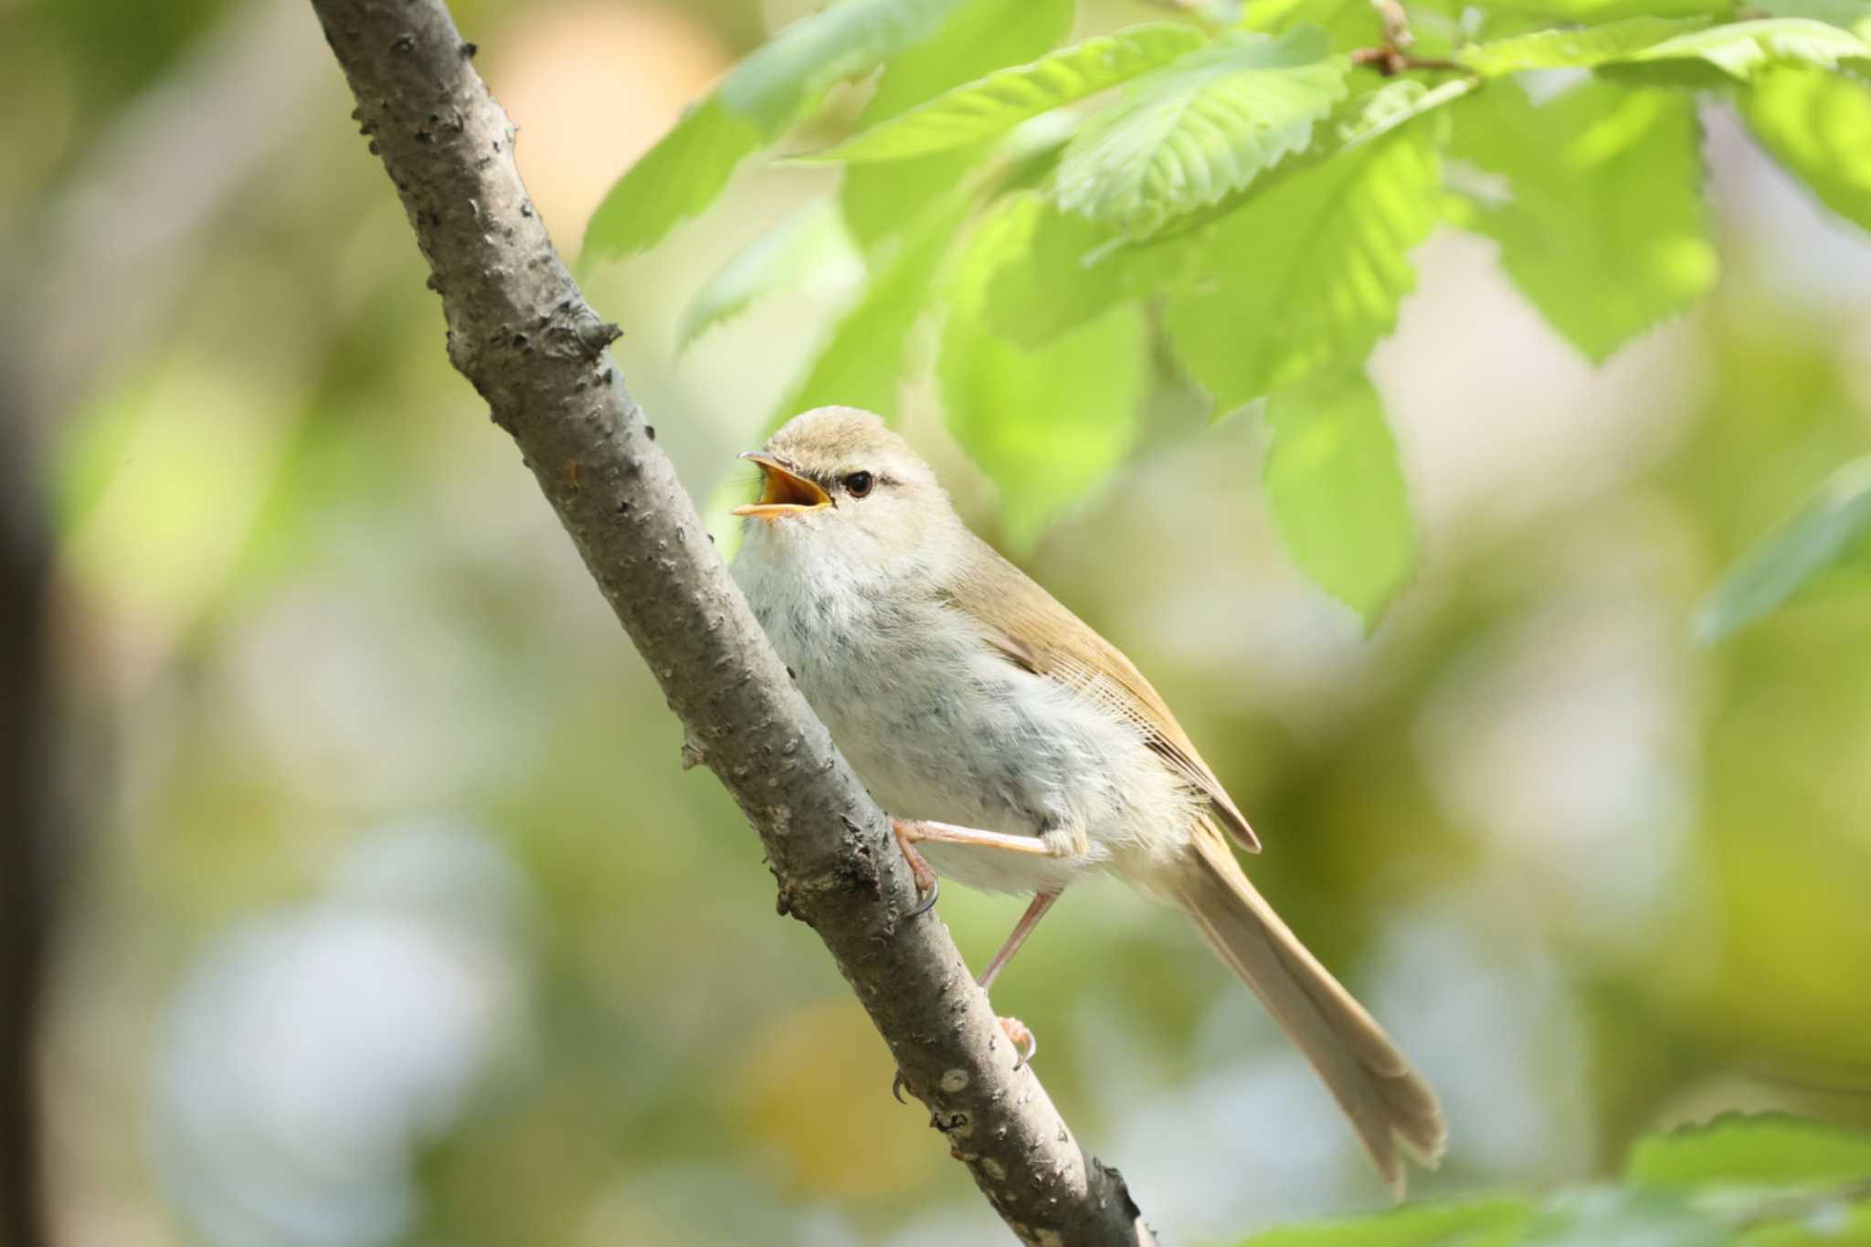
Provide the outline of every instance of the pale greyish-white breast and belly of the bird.
[[1138,858],[1188,843],[1192,795],[1132,725],[1081,690],[1007,662],[926,583],[803,559],[812,559],[806,542],[748,542],[735,578],[885,810],[1020,836],[1078,826],[1089,843],[1076,858],[924,845],[943,875],[1057,890],[1113,858],[1141,873]]

